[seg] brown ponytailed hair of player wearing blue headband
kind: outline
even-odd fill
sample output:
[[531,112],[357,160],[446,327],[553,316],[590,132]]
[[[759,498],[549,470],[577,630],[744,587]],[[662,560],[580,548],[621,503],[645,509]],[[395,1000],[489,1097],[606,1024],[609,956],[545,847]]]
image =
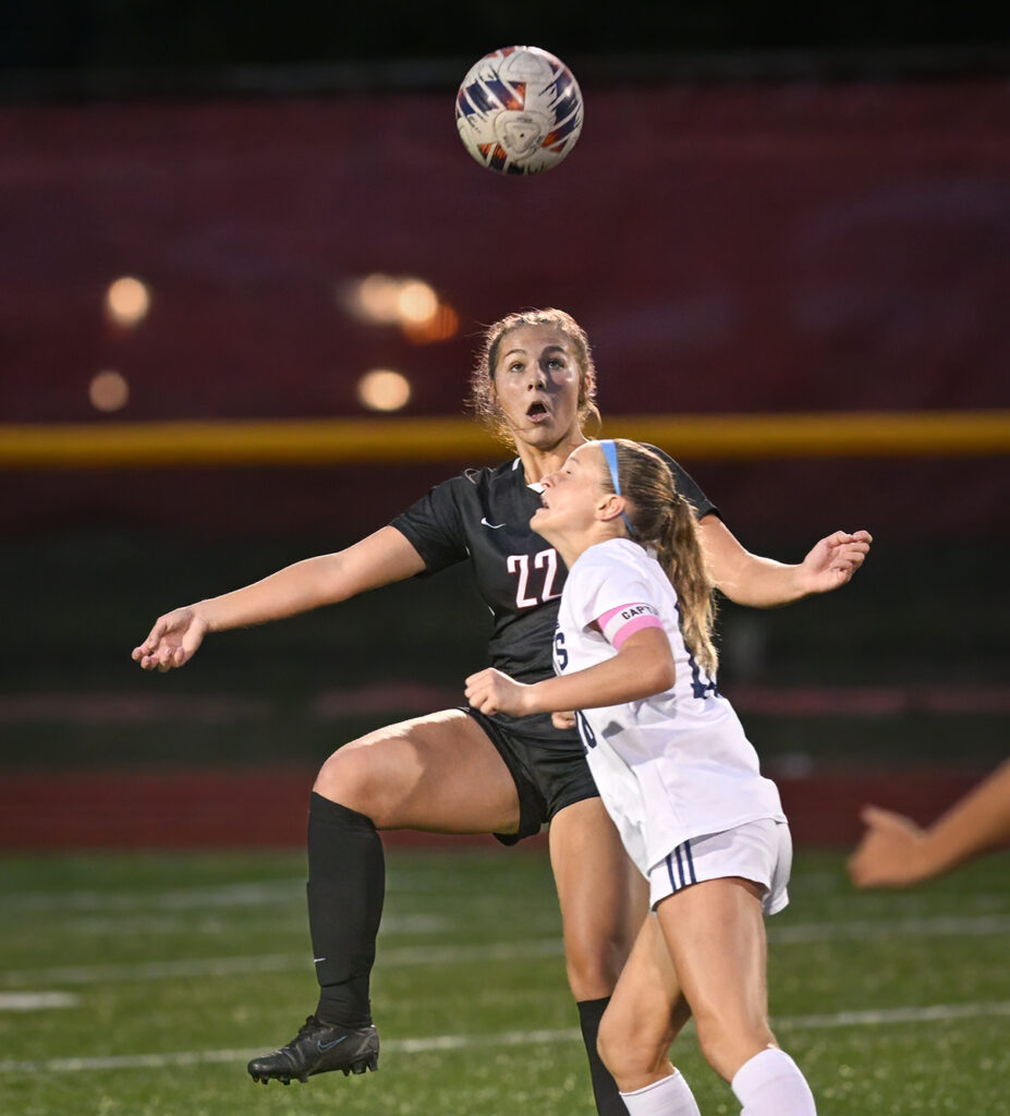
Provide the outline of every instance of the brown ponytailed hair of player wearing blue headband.
[[[615,439],[621,494],[635,542],[652,547],[676,590],[684,643],[699,665],[715,676],[719,653],[712,643],[715,602],[705,568],[694,508],[676,491],[666,462],[644,445]],[[603,470],[604,491],[613,492],[609,470]]]

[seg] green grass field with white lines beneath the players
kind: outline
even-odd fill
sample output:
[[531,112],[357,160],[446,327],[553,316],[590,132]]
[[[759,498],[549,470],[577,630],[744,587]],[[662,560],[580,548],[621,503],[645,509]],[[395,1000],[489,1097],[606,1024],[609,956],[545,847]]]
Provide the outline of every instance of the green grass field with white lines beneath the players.
[[[840,855],[798,855],[771,1008],[821,1116],[1010,1112],[1008,867],[854,894]],[[391,849],[381,1069],[290,1088],[244,1062],[315,1002],[299,855],[7,858],[0,910],[4,1116],[594,1112],[538,850]],[[690,1030],[675,1060],[739,1112]]]

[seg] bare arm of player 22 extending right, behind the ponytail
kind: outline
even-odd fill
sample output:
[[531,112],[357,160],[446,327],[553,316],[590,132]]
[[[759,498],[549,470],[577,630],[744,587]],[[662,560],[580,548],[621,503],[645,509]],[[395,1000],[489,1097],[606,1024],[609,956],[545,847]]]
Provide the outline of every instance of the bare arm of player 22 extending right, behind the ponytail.
[[752,608],[775,608],[839,588],[863,565],[873,542],[868,531],[835,531],[801,562],[789,566],[752,555],[718,516],[705,516],[698,526],[715,587],[735,604]]

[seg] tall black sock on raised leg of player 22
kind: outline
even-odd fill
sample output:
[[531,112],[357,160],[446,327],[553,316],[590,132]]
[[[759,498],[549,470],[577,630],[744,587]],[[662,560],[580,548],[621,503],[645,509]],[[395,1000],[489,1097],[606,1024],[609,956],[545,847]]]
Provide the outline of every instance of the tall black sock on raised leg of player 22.
[[368,981],[386,891],[382,839],[364,814],[312,791],[308,854],[316,1016],[365,1027],[372,1022]]

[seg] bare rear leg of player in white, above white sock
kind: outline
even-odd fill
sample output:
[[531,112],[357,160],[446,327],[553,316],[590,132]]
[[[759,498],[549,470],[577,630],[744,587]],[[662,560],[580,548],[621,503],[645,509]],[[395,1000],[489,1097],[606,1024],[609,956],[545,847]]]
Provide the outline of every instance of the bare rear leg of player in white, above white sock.
[[599,1050],[623,1089],[668,1072],[670,1045],[691,1016],[658,920],[642,924],[599,1026]]

